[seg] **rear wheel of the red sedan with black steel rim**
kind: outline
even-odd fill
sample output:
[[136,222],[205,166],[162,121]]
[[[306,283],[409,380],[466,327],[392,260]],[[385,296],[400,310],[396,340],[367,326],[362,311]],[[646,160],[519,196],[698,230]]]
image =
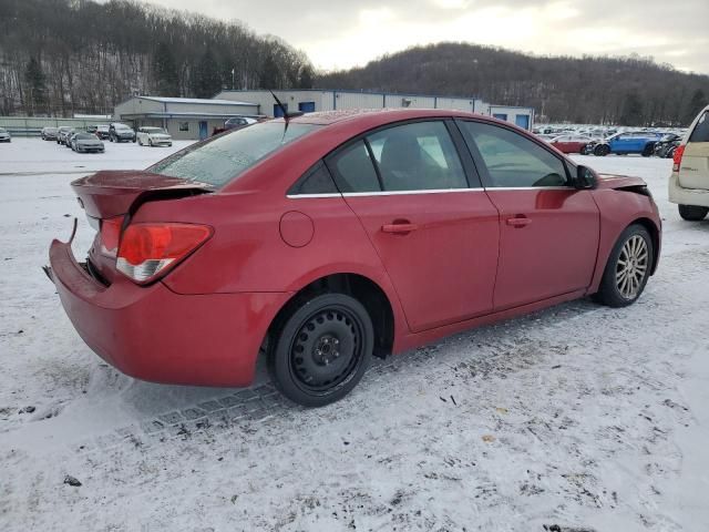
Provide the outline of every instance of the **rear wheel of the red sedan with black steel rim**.
[[357,299],[322,294],[287,313],[268,344],[268,369],[280,392],[305,407],[322,407],[360,381],[371,360],[374,329]]

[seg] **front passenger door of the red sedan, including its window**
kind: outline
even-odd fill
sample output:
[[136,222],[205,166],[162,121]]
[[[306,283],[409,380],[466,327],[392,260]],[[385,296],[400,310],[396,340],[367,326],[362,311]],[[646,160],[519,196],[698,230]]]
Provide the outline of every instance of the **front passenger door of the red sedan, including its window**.
[[588,287],[599,238],[590,191],[576,190],[564,160],[507,127],[459,121],[500,212],[495,310]]

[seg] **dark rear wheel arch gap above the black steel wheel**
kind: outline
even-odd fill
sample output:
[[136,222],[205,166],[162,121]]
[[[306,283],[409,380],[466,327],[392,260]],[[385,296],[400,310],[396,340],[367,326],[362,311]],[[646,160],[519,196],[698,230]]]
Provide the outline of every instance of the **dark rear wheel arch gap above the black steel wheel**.
[[281,306],[271,320],[266,332],[264,344],[273,339],[274,334],[287,319],[294,309],[306,300],[320,294],[347,294],[367,309],[374,328],[374,352],[379,358],[386,358],[392,352],[395,317],[394,307],[387,291],[370,277],[361,274],[343,272],[322,275],[304,285]]

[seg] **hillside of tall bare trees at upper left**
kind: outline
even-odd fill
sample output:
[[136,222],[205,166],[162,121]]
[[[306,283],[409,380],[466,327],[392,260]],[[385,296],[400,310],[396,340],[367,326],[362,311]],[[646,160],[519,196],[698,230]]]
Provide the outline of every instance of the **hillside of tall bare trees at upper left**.
[[312,76],[302,52],[238,23],[126,0],[0,0],[0,115],[112,113],[133,93],[210,98],[232,80]]

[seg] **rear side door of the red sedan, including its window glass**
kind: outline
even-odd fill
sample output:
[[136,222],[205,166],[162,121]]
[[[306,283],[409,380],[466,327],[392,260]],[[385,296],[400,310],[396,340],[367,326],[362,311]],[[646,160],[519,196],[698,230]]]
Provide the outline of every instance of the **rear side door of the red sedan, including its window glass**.
[[451,127],[444,120],[399,123],[326,160],[414,332],[493,306],[497,211],[465,150],[461,158],[464,144]]

